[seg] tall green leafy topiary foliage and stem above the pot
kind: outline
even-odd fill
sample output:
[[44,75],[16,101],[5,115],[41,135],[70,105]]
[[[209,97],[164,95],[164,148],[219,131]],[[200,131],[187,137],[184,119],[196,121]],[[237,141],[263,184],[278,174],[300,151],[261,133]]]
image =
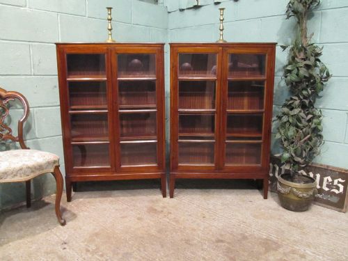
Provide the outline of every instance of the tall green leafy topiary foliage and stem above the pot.
[[280,139],[283,148],[281,161],[292,173],[310,164],[324,142],[322,111],[315,108],[315,100],[331,75],[319,58],[322,47],[310,43],[313,33],[307,33],[308,13],[319,3],[320,0],[290,0],[287,4],[287,19],[295,17],[299,30],[292,45],[282,46],[283,50],[289,49],[284,79],[292,97],[285,100],[276,116],[276,139]]

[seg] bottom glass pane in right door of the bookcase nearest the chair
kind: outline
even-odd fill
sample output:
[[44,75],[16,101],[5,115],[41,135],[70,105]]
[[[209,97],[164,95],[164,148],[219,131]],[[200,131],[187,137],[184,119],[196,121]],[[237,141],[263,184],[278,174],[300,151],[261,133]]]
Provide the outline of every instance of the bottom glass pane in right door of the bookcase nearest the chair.
[[121,166],[157,164],[157,143],[121,143]]

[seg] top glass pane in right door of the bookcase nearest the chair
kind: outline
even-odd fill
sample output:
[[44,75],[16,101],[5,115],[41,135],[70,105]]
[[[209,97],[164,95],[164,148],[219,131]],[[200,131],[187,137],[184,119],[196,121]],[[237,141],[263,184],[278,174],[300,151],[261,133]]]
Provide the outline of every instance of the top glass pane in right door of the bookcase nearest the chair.
[[155,54],[118,54],[118,77],[155,77]]

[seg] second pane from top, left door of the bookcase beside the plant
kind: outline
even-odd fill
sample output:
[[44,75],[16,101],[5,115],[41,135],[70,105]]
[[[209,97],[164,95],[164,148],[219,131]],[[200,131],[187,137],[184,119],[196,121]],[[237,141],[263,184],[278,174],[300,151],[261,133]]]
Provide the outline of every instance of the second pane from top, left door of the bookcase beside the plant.
[[215,109],[215,81],[180,81],[179,109]]

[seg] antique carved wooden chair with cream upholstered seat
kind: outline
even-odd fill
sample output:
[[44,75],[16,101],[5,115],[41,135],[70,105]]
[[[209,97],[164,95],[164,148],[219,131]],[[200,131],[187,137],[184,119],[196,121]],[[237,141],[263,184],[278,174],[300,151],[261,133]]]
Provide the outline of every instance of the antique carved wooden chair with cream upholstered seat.
[[[9,102],[22,102],[24,114],[18,120],[18,134],[13,136],[12,129],[6,124],[10,106]],[[0,88],[0,141],[19,142],[19,150],[0,151],[0,183],[26,182],[26,207],[31,206],[31,179],[44,173],[52,173],[56,179],[56,216],[62,226],[65,220],[61,216],[61,197],[63,193],[63,177],[59,170],[59,157],[49,152],[29,150],[23,139],[23,125],[29,116],[29,104],[26,98],[15,91]]]

